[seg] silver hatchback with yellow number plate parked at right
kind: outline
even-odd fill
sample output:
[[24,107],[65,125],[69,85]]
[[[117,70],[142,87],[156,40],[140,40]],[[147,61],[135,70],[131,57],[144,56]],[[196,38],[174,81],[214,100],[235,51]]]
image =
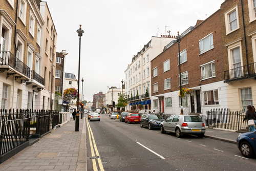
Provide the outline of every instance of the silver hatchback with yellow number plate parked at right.
[[160,124],[161,133],[172,132],[180,138],[185,134],[197,135],[202,138],[205,133],[204,122],[195,115],[172,115]]

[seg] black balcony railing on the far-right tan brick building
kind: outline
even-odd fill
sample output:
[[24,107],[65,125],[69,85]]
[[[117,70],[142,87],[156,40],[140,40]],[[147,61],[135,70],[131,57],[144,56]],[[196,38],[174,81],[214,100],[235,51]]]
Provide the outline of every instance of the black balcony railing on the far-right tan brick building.
[[224,82],[254,77],[256,76],[255,69],[256,69],[256,62],[246,66],[224,71]]

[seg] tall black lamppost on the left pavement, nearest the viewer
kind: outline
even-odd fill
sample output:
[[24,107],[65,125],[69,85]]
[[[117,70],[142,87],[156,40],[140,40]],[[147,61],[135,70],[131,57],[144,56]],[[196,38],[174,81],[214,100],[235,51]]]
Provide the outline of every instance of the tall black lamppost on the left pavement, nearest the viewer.
[[75,131],[79,131],[79,82],[80,82],[80,54],[81,54],[81,36],[84,31],[81,28],[82,25],[80,25],[80,28],[76,31],[79,36],[79,59],[78,59],[78,83],[77,83],[77,107],[76,107],[76,126]]

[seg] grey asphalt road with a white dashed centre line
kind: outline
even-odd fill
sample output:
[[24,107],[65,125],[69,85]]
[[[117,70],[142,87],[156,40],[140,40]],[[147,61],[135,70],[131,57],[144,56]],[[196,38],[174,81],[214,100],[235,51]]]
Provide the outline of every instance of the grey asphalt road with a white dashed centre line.
[[235,144],[197,136],[177,138],[108,115],[87,122],[87,157],[88,170],[256,169],[256,158],[243,158]]

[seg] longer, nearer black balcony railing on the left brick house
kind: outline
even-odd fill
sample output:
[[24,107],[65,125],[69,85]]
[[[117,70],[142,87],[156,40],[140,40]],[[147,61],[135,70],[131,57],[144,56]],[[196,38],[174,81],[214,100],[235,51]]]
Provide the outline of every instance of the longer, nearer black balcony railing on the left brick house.
[[29,77],[30,74],[30,68],[23,63],[21,60],[16,58],[11,52],[8,51],[2,51],[0,53],[0,62],[1,66],[10,66],[16,71],[23,73],[27,77]]

